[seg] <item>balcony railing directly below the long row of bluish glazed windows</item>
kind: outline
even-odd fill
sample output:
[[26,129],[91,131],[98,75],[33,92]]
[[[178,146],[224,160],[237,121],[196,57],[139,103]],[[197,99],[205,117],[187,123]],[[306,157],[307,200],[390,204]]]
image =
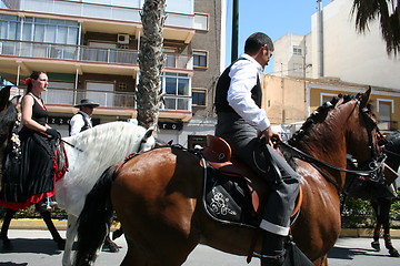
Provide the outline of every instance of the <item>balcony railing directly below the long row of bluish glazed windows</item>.
[[[138,64],[139,51],[0,39],[0,55]],[[166,68],[192,70],[191,57],[166,53]]]

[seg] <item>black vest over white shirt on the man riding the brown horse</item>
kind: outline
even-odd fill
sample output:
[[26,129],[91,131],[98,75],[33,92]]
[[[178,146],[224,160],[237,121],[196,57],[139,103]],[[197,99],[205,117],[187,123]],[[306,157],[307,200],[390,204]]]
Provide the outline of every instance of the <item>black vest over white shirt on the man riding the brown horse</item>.
[[[238,60],[248,60],[248,59],[240,58]],[[234,61],[232,64],[234,64],[237,61]],[[231,82],[229,72],[230,69],[232,68],[232,64],[229,65],[223,71],[223,73],[220,75],[217,82],[216,103],[214,103],[217,113],[222,113],[222,112],[236,113],[236,111],[228,103],[228,90]],[[257,75],[257,84],[253,86],[253,89],[251,89],[251,99],[256,102],[257,106],[261,108],[262,90],[261,90],[260,79],[258,75]]]

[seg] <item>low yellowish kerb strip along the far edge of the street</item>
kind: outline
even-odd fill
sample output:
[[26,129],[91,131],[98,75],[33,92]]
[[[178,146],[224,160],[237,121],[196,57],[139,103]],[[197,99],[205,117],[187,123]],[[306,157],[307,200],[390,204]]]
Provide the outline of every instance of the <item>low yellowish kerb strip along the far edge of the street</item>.
[[[67,229],[67,219],[53,219],[57,229]],[[2,225],[2,221],[0,222]],[[46,224],[42,219],[12,219],[10,224],[11,229],[47,229]],[[111,227],[111,231],[113,228]],[[340,233],[340,237],[372,237],[373,228],[343,228]],[[400,239],[400,229],[391,229],[390,235],[392,238]]]

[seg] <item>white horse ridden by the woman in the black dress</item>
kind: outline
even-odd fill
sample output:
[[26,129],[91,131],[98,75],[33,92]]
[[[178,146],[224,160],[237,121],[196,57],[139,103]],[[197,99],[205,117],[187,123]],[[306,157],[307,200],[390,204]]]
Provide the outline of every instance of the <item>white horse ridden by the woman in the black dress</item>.
[[[56,200],[68,213],[67,242],[62,265],[71,265],[72,244],[77,235],[77,219],[87,194],[102,172],[121,163],[129,154],[151,150],[156,140],[152,130],[128,122],[110,122],[62,139],[69,167],[56,183]],[[73,146],[72,146],[73,145]]]

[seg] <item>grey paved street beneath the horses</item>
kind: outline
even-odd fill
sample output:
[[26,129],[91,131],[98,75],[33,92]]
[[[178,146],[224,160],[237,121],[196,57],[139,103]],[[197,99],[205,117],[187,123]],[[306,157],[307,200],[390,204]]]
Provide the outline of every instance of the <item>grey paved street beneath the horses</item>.
[[[64,236],[64,231],[61,231]],[[0,266],[54,266],[61,265],[62,252],[56,249],[47,231],[11,229],[9,237],[14,246],[13,252],[0,249]],[[127,246],[123,237],[117,239],[122,247],[120,253],[104,252],[100,255],[96,266],[114,266],[122,260]],[[400,239],[393,239],[393,244],[400,247]],[[381,247],[383,242],[381,241]],[[370,247],[369,238],[340,238],[329,255],[330,266],[399,266],[400,258],[388,256],[387,250],[377,253]],[[207,246],[199,245],[189,256],[183,266],[244,266],[244,257],[232,256],[218,252]],[[250,266],[259,265],[253,259]]]

